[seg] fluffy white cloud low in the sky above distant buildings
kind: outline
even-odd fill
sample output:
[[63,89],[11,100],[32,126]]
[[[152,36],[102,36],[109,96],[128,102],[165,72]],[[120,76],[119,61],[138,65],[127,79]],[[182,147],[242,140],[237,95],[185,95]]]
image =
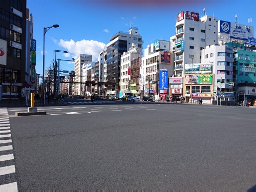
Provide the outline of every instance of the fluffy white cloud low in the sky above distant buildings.
[[65,56],[68,56],[69,54],[69,56],[76,58],[79,54],[87,54],[93,56],[93,61],[98,59],[99,53],[105,47],[103,42],[86,39],[82,39],[76,42],[73,39],[60,39],[58,45],[68,50],[68,53],[66,53]]

